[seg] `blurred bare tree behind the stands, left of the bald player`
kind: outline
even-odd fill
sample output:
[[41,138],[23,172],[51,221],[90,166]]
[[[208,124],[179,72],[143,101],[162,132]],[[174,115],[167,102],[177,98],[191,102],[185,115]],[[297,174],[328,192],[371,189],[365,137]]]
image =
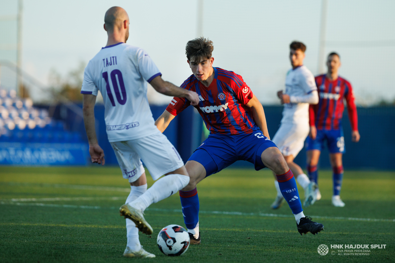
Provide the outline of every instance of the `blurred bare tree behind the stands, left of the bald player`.
[[80,92],[86,65],[83,61],[79,62],[78,67],[75,70],[71,70],[64,78],[55,69],[51,69],[49,72],[49,85],[54,97],[56,97],[56,94],[60,94],[71,101],[81,102],[83,96]]

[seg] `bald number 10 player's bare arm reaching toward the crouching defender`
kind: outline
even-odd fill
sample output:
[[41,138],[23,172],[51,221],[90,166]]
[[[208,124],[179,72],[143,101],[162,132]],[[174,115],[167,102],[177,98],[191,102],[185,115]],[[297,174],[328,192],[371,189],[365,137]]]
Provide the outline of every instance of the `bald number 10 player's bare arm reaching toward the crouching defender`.
[[164,95],[186,98],[193,106],[199,103],[199,96],[196,92],[180,88],[169,81],[164,81],[161,76],[152,79],[150,84],[157,92]]

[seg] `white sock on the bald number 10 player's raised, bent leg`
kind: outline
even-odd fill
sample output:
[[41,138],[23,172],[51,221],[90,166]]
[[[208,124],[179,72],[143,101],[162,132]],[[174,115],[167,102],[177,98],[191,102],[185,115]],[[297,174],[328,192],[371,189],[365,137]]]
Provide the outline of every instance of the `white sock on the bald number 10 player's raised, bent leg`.
[[166,175],[157,180],[152,186],[142,195],[139,196],[129,205],[136,209],[144,211],[152,203],[157,203],[181,190],[189,184],[189,176],[180,175],[177,173]]

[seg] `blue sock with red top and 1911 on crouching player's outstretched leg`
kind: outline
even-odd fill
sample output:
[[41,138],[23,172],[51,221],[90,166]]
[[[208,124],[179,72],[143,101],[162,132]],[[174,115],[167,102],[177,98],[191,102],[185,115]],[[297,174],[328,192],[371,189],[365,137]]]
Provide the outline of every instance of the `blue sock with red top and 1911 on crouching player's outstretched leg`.
[[276,177],[282,196],[284,196],[285,200],[290,206],[292,214],[299,214],[300,212],[302,212],[302,203],[300,201],[296,181],[293,177],[291,169],[282,175],[276,175]]

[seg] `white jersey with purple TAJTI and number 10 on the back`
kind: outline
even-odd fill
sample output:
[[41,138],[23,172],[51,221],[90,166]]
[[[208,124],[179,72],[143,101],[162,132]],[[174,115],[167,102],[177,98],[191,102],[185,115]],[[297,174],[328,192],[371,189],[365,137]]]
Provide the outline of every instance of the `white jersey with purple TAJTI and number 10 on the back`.
[[162,75],[144,49],[126,43],[103,47],[89,61],[81,93],[102,93],[110,142],[158,132],[148,104],[147,82]]

